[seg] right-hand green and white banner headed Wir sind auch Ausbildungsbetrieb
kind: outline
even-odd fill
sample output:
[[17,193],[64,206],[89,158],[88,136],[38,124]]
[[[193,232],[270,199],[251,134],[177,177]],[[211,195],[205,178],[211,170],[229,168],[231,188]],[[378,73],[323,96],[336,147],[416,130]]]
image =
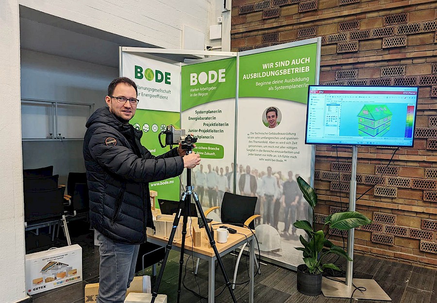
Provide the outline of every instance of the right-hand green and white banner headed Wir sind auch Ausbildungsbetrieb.
[[[240,53],[236,191],[258,197],[261,254],[297,266],[302,254],[294,247],[305,235],[293,223],[308,220],[308,208],[296,177],[309,180],[311,175],[311,145],[304,144],[306,99],[319,66],[317,43],[290,45]],[[252,178],[256,187],[248,186]]]

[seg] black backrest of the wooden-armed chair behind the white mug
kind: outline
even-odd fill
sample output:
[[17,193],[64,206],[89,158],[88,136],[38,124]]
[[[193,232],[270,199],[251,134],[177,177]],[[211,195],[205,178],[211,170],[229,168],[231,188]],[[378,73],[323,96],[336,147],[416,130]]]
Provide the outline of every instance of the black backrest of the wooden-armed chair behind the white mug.
[[[241,196],[225,192],[221,203],[221,222],[243,224],[255,214],[257,197]],[[255,229],[252,223],[249,227]]]

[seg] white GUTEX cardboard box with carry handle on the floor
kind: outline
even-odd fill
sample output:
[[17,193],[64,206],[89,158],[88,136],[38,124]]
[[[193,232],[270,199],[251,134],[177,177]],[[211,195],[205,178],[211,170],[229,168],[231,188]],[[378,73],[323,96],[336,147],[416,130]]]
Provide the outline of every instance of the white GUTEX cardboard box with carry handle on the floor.
[[26,289],[30,295],[82,281],[82,247],[78,244],[26,255]]

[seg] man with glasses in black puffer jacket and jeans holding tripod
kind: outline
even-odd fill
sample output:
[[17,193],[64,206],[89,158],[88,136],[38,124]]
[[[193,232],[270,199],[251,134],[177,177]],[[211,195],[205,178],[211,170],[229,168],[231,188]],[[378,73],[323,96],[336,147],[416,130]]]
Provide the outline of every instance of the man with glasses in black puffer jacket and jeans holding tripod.
[[[181,146],[155,157],[141,145],[142,132],[129,121],[138,103],[134,81],[113,80],[108,107],[86,123],[84,160],[89,187],[89,217],[100,243],[98,303],[122,303],[134,278],[139,244],[152,222],[149,182],[180,175],[200,162]],[[183,157],[183,158],[182,158]]]

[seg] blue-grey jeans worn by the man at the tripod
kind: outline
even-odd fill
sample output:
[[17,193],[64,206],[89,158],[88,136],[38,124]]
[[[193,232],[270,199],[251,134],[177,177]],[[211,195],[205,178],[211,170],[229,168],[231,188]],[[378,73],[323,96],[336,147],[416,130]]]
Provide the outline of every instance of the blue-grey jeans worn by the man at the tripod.
[[123,303],[134,279],[139,245],[114,242],[97,231],[100,280],[97,303]]

